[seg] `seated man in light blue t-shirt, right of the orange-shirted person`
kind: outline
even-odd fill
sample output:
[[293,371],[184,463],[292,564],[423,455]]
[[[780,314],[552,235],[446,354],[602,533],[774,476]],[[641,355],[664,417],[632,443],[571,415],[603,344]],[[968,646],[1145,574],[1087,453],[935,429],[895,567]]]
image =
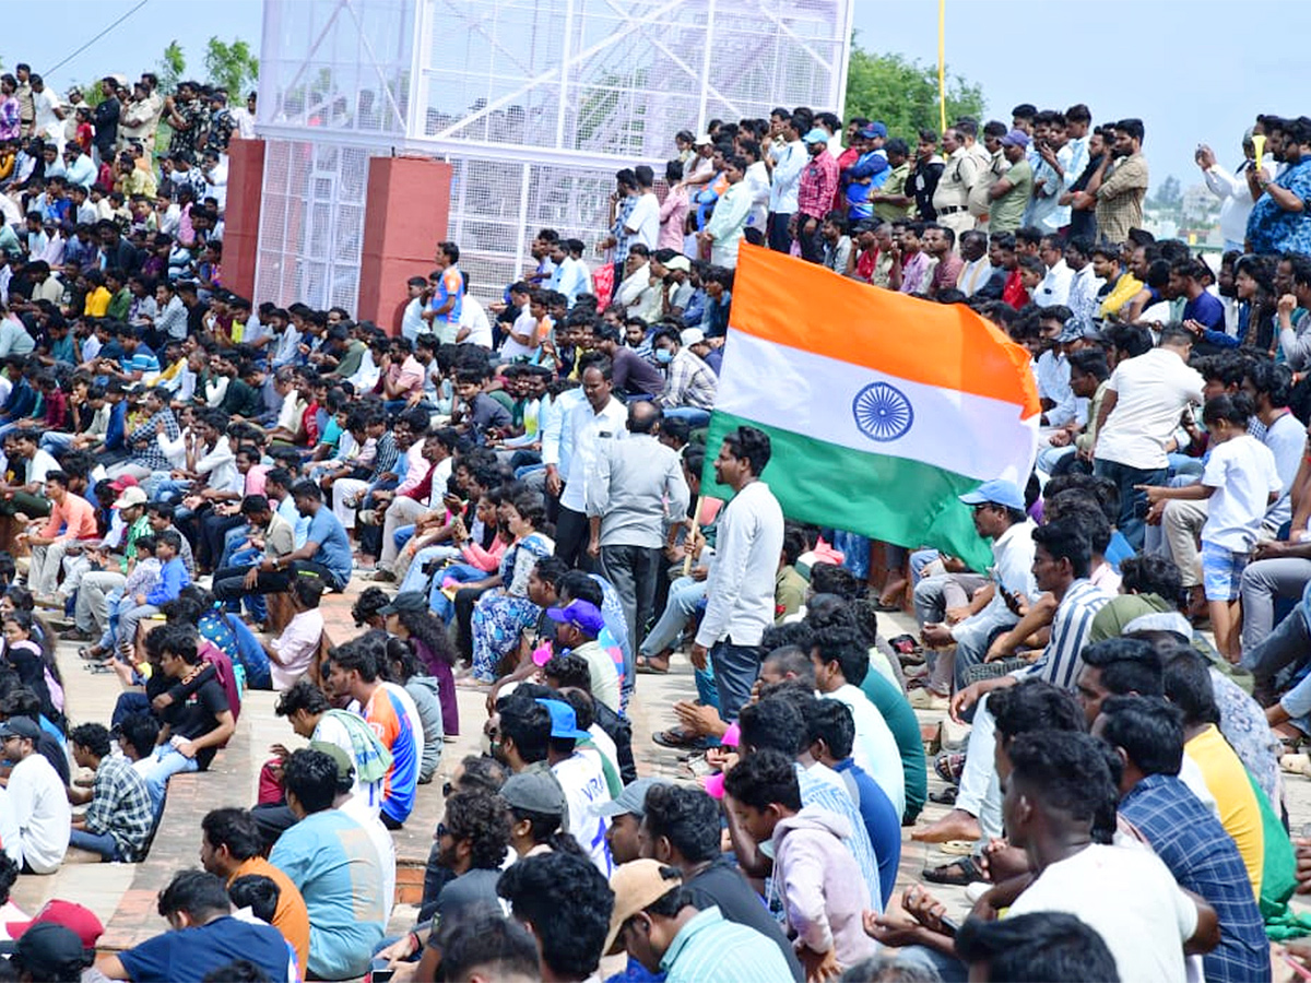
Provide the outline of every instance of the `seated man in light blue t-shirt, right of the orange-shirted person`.
[[278,839],[269,862],[291,878],[309,912],[308,973],[349,979],[368,969],[392,907],[368,834],[338,809],[337,765],[323,751],[296,751],[283,768],[296,824]]

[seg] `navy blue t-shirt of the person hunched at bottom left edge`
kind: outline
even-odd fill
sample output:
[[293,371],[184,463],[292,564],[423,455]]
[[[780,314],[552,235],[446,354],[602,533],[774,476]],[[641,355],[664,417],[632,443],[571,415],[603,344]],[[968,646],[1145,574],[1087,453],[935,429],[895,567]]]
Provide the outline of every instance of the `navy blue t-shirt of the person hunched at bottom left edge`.
[[201,983],[236,959],[253,962],[269,979],[287,979],[287,942],[269,925],[224,915],[206,925],[165,932],[118,954],[136,983]]

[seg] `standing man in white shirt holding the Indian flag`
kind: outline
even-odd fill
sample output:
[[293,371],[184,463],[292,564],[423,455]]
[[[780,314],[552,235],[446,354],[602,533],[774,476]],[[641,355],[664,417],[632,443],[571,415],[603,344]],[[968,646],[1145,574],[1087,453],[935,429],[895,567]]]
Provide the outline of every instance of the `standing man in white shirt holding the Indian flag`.
[[705,668],[707,655],[713,659],[720,716],[730,723],[751,699],[760,638],[773,624],[783,509],[760,481],[770,453],[764,431],[739,426],[724,436],[714,459],[714,480],[733,490],[733,499],[720,516],[705,616],[690,658],[699,670]]

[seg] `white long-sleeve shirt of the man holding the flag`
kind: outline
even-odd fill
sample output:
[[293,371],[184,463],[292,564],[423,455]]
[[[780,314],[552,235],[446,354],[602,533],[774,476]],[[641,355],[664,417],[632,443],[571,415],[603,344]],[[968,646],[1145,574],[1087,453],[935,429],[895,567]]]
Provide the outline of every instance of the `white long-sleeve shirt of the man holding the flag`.
[[773,587],[783,552],[783,509],[763,481],[738,492],[720,514],[714,568],[696,644],[724,638],[759,645],[773,624]]

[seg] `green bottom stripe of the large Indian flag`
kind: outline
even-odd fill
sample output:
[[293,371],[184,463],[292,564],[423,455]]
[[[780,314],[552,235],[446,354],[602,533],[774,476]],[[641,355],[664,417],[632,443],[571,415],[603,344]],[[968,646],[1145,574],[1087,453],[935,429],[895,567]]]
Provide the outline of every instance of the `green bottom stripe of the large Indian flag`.
[[724,435],[754,426],[770,435],[772,455],[762,476],[789,519],[856,532],[901,547],[936,547],[986,570],[992,552],[974,531],[970,509],[957,495],[978,478],[906,457],[861,453],[805,434],[763,426],[716,410],[705,443],[701,493],[732,498],[714,481],[714,456]]

